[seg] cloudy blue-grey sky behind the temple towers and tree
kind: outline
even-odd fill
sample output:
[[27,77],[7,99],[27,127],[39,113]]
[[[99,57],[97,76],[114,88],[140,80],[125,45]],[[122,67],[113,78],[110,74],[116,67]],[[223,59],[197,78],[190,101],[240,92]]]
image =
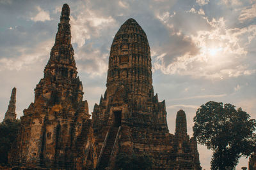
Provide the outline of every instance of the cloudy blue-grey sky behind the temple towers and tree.
[[[207,101],[234,104],[256,118],[255,0],[0,0],[0,120],[13,87],[18,117],[33,102],[63,3],[70,6],[72,45],[90,112],[106,90],[115,33],[134,18],[148,36],[154,91],[166,100],[171,133],[182,109],[191,136],[196,109]],[[198,149],[209,169],[211,151]],[[237,169],[242,166],[248,159]]]

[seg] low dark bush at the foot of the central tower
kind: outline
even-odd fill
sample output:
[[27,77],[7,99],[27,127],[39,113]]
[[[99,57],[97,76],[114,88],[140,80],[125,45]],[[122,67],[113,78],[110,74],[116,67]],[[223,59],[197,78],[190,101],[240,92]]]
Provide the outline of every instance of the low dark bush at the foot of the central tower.
[[116,167],[122,170],[141,169],[147,170],[152,167],[152,158],[147,154],[119,153],[116,157]]

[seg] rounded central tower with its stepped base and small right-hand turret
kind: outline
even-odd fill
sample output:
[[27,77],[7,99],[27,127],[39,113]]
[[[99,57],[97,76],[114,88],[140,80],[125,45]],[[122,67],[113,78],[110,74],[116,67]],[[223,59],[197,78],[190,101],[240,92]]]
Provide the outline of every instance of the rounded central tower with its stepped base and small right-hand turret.
[[92,113],[99,169],[115,167],[120,152],[152,155],[152,169],[201,169],[184,111],[177,114],[175,135],[168,132],[165,103],[154,94],[151,69],[147,36],[130,18],[113,39],[107,89]]

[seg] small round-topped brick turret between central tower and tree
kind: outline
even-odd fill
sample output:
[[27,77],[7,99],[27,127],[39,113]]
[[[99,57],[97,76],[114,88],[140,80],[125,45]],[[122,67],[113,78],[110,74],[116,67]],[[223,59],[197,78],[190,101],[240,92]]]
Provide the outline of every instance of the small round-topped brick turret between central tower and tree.
[[177,113],[175,134],[187,134],[186,113],[183,110]]

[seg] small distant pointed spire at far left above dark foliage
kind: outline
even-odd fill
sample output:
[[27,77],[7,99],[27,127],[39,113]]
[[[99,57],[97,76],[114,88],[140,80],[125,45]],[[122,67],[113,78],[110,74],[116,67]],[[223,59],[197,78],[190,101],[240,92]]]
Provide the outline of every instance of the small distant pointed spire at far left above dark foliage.
[[16,109],[16,88],[13,87],[8,109],[4,115],[4,121],[16,119],[15,109]]

